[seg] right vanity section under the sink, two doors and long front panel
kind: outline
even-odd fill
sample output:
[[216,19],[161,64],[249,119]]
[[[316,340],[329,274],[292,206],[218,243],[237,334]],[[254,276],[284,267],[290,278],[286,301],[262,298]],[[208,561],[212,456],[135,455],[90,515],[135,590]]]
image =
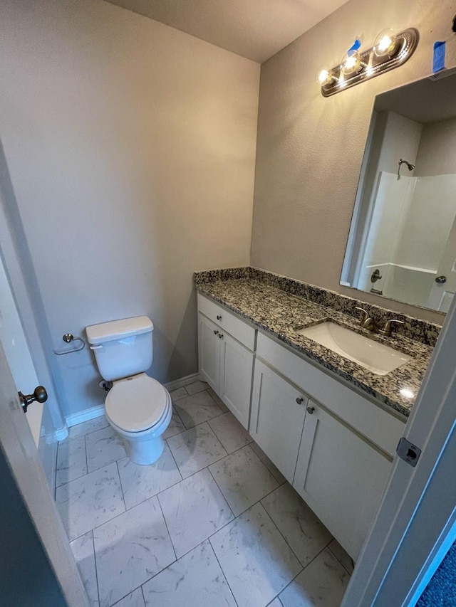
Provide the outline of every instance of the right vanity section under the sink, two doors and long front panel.
[[259,333],[250,433],[353,559],[373,522],[403,427]]

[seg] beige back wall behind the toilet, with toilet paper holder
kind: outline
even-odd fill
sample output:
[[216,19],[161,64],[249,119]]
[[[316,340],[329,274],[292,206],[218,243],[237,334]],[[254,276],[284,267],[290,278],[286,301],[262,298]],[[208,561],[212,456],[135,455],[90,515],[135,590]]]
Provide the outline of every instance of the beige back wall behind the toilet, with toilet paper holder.
[[[197,371],[192,272],[249,263],[259,65],[103,1],[4,0],[0,80],[53,347],[150,315],[152,375]],[[87,349],[48,354],[66,414],[103,402]]]

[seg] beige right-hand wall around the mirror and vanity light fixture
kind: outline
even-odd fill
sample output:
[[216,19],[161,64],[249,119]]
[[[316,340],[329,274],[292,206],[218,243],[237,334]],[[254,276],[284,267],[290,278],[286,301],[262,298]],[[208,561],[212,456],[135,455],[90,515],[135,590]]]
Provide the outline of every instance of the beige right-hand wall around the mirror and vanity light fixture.
[[[356,295],[339,280],[375,95],[430,75],[436,40],[451,41],[446,65],[455,65],[454,13],[450,0],[351,0],[261,65],[252,265]],[[368,46],[383,28],[410,26],[420,43],[408,63],[321,96],[318,68],[336,65],[356,33]],[[387,305],[442,322],[435,312]]]

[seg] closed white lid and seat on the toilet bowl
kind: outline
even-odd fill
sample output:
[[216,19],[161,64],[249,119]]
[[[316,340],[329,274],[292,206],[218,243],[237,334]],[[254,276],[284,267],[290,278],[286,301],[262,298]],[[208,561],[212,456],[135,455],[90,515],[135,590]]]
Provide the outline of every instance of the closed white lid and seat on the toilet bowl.
[[159,425],[170,408],[170,394],[156,379],[140,373],[114,382],[105,412],[125,432],[144,432]]

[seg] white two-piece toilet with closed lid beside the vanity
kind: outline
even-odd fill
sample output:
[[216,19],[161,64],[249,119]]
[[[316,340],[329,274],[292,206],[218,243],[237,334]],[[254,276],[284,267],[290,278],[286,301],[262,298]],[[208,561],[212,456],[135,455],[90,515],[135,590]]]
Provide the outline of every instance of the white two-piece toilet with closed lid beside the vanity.
[[100,375],[112,381],[105,400],[110,426],[122,437],[135,464],[154,463],[162,455],[162,434],[170,424],[170,393],[145,374],[152,364],[153,324],[147,316],[86,327]]

